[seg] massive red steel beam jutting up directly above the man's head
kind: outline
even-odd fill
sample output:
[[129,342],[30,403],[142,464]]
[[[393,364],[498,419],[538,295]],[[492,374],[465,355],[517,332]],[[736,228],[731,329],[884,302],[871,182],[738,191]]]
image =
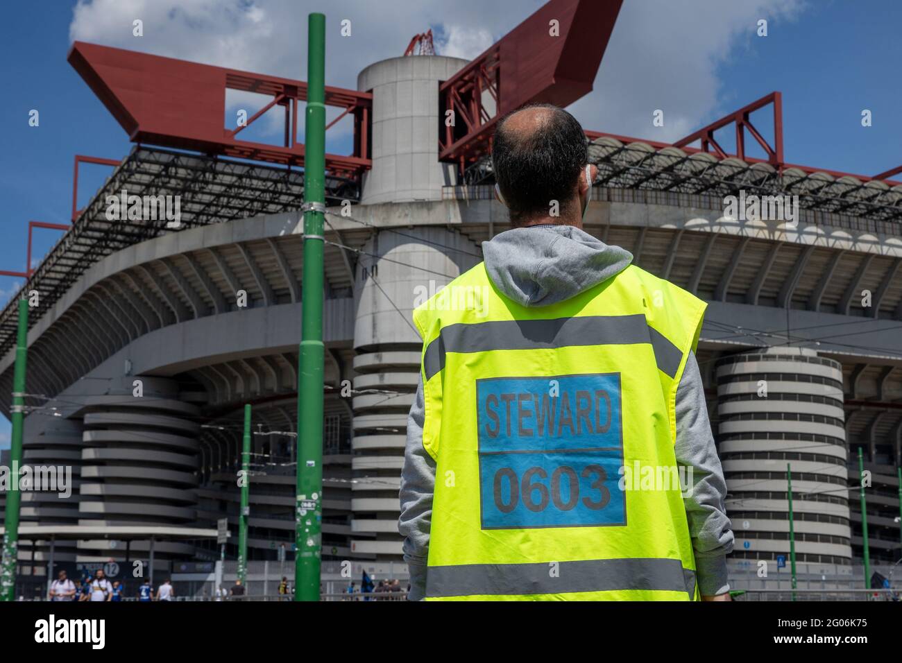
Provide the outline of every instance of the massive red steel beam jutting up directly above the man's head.
[[621,3],[551,0],[446,80],[440,121],[454,111],[455,126],[439,140],[439,160],[464,166],[489,152],[494,125],[520,106],[569,106],[591,92]]

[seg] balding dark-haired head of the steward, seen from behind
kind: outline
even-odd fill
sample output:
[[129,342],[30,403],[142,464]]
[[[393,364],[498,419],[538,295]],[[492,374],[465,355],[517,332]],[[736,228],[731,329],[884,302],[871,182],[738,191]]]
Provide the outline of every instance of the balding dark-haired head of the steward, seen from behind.
[[[578,184],[588,159],[583,127],[557,106],[526,106],[502,119],[492,168],[511,223],[568,223],[579,212]],[[550,216],[554,204],[560,216]]]

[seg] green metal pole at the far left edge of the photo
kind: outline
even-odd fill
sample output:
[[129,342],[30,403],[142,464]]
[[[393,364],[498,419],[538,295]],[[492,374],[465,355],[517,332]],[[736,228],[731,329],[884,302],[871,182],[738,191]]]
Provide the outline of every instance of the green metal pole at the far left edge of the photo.
[[25,417],[25,359],[28,345],[28,299],[19,299],[19,328],[15,342],[15,368],[13,373],[13,433],[10,445],[10,487],[6,493],[4,515],[3,561],[0,566],[0,599],[15,601],[15,567],[19,554],[19,465],[22,465],[22,428]]

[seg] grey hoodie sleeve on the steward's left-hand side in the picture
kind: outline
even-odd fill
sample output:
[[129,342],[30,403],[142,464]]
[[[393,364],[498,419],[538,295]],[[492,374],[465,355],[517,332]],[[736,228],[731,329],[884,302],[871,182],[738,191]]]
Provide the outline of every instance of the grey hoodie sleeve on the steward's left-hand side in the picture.
[[410,569],[410,601],[420,601],[426,596],[429,527],[432,523],[432,495],[436,487],[436,461],[423,448],[425,419],[423,378],[420,375],[417,395],[410,406],[407,419],[407,444],[399,495],[398,530],[404,537],[404,561]]

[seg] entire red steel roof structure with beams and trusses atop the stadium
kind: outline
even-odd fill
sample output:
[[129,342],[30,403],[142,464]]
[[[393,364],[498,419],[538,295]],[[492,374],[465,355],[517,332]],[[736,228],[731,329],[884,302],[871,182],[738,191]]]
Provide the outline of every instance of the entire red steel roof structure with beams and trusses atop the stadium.
[[[568,106],[592,90],[621,2],[551,0],[439,87],[439,159],[458,165],[460,184],[492,180],[491,136],[504,114],[533,102]],[[27,278],[23,289],[40,290],[42,303],[60,299],[103,256],[170,232],[161,222],[107,220],[106,195],[123,188],[134,194],[182,197],[182,227],[299,207],[304,180],[298,167],[304,164],[304,145],[296,135],[298,107],[307,99],[304,81],[80,41],[69,51],[69,63],[138,144],[121,162],[78,156],[76,178],[80,161],[115,167],[106,186],[82,210],[76,209],[73,199],[72,226],[34,270],[26,264],[23,272],[0,272]],[[244,126],[226,127],[226,89],[271,97],[247,124],[276,106],[283,108],[282,144],[244,141]],[[329,126],[347,115],[354,118],[353,153],[326,157],[327,201],[357,200],[361,176],[372,165],[373,95],[327,87],[326,104],[342,108]],[[774,114],[772,141],[750,119],[751,113],[767,106]],[[448,111],[455,119],[453,126],[445,126]],[[731,126],[735,154],[715,136]],[[798,193],[804,194],[802,207],[855,216],[875,232],[880,232],[880,224],[895,225],[902,219],[902,185],[886,180],[902,172],[902,166],[868,177],[784,162],[778,92],[676,143],[594,131],[586,135],[590,159],[599,166],[595,181],[599,188],[624,194],[644,189],[658,197],[723,196],[741,188],[764,194]],[[759,144],[765,159],[747,155],[747,136]],[[186,150],[195,153],[179,152]],[[67,226],[32,222],[32,227]],[[0,312],[0,354],[14,343],[16,299]],[[32,309],[30,322],[48,308]]]

